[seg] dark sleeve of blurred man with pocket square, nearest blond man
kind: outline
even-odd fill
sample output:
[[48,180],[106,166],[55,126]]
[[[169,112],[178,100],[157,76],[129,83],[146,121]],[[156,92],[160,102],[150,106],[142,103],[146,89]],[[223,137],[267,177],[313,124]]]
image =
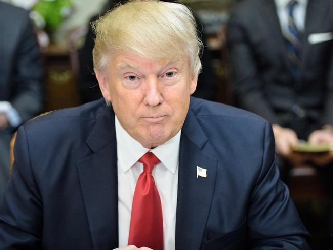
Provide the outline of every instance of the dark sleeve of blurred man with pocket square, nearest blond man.
[[264,117],[270,123],[281,124],[265,99],[258,58],[249,39],[252,31],[245,25],[245,22],[251,21],[246,20],[246,13],[243,12],[240,8],[233,9],[227,27],[228,64],[237,105]]

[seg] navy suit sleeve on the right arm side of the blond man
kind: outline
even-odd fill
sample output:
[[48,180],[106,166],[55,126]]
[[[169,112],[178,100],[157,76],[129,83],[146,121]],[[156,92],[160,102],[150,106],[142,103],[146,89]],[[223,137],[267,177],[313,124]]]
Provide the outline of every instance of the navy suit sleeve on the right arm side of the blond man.
[[249,200],[248,244],[251,249],[310,249],[309,235],[279,178],[272,128],[265,127],[262,168]]

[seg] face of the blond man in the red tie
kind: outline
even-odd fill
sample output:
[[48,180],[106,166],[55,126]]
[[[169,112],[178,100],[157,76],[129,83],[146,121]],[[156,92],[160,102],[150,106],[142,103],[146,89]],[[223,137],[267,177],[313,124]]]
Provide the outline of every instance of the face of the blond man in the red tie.
[[134,54],[112,58],[106,72],[96,72],[96,77],[121,126],[145,148],[179,132],[197,85],[188,60],[163,63]]

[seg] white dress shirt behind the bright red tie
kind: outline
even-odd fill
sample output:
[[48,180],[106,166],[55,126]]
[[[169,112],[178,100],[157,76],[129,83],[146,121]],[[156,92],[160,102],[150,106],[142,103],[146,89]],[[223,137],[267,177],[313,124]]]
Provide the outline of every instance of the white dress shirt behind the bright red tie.
[[137,160],[153,152],[161,162],[152,175],[161,197],[163,212],[164,250],[175,249],[176,206],[178,186],[179,131],[173,138],[154,149],[147,149],[134,140],[115,117],[118,156],[118,216],[119,247],[127,246],[132,200],[136,181],[143,172],[143,164]]

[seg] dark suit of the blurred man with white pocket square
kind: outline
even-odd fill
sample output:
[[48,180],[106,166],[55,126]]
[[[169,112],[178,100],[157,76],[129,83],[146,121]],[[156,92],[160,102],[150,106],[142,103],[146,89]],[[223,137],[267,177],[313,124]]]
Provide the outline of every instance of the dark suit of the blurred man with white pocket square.
[[[328,38],[310,43],[318,33]],[[300,41],[295,80],[274,0],[245,0],[231,11],[227,43],[237,105],[307,140],[314,130],[333,124],[333,1],[308,0]],[[288,180],[290,165],[279,161]],[[320,170],[331,190],[332,168]]]

